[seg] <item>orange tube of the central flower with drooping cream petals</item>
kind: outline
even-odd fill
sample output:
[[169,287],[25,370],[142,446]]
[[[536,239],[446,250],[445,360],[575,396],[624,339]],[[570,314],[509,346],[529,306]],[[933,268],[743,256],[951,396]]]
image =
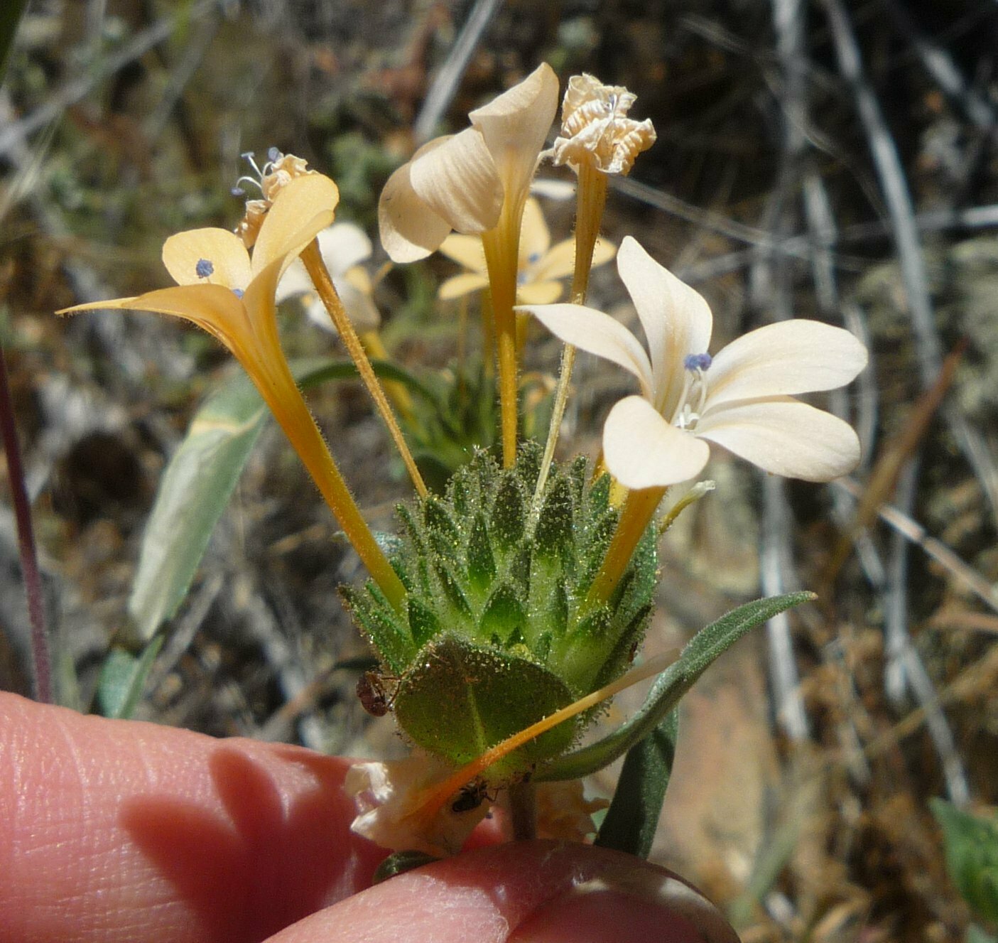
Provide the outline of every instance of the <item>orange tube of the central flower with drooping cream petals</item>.
[[523,204],[503,205],[499,223],[482,233],[485,263],[489,270],[492,316],[496,326],[496,355],[499,363],[499,409],[502,419],[502,461],[510,469],[516,464],[517,435],[517,357],[516,357],[516,275],[520,257],[520,222]]

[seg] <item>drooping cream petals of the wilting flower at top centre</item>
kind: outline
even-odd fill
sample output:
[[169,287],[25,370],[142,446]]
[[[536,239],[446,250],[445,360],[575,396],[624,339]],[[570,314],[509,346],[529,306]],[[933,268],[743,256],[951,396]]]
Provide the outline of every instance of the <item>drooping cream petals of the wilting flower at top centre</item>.
[[378,203],[381,243],[394,262],[434,252],[452,230],[484,233],[504,202],[522,206],[558,108],[558,79],[542,63],[471,112],[471,127],[423,145],[388,178]]

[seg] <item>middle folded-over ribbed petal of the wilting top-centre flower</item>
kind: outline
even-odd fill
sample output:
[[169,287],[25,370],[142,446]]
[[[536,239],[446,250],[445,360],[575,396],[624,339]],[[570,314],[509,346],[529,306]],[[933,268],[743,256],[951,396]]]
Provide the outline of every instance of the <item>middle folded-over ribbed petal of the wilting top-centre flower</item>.
[[431,141],[416,151],[410,163],[412,189],[451,229],[484,233],[499,221],[502,184],[492,155],[474,128]]

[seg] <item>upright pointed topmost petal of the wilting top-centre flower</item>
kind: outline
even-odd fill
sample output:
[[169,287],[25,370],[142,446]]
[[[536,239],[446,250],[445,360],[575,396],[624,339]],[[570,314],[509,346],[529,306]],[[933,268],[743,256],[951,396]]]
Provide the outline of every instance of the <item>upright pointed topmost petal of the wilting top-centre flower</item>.
[[485,139],[508,200],[526,195],[558,110],[558,77],[542,62],[518,85],[470,112]]

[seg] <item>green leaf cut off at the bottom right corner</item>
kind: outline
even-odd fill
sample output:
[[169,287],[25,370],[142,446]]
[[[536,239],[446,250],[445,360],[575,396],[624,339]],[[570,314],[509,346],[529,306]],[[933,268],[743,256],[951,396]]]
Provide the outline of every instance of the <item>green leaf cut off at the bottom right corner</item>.
[[942,828],[946,870],[974,912],[998,923],[998,815],[971,815],[944,799],[929,799]]

